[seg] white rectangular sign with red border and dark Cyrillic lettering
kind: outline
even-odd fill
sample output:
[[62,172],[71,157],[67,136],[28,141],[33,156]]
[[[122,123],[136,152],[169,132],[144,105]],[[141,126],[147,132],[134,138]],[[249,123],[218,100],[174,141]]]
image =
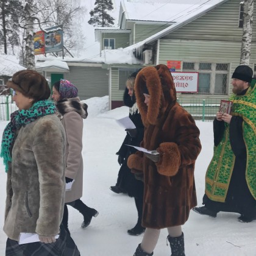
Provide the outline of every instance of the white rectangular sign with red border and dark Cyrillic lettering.
[[171,74],[177,93],[197,93],[198,73],[174,72]]

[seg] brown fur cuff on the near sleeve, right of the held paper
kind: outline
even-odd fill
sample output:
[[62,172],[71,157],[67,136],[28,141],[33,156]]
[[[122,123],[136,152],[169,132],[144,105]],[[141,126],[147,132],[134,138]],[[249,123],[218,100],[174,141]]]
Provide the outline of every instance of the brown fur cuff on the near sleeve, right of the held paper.
[[176,143],[165,142],[157,149],[160,160],[155,163],[157,171],[165,176],[175,176],[180,168],[180,152]]

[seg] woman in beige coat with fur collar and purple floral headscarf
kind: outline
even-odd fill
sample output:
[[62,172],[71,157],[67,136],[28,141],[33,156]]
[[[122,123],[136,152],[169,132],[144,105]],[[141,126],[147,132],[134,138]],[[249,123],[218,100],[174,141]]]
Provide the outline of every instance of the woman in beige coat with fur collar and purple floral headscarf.
[[77,98],[77,88],[68,80],[60,79],[52,88],[52,99],[54,99],[58,115],[66,131],[66,188],[65,208],[62,223],[68,230],[68,207],[79,210],[84,216],[81,227],[89,226],[91,218],[98,216],[94,208],[85,205],[81,200],[83,190],[83,158],[82,158],[82,135],[83,118],[87,118],[87,104],[80,102]]

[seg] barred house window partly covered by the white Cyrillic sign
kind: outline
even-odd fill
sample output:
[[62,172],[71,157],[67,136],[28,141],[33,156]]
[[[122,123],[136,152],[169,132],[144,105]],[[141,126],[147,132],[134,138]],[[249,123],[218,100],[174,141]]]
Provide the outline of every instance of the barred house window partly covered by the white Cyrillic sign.
[[194,62],[193,64],[194,65],[192,65],[191,62],[183,62],[182,71],[191,71],[199,73],[197,93],[224,95],[227,94],[227,82],[229,74],[228,63]]

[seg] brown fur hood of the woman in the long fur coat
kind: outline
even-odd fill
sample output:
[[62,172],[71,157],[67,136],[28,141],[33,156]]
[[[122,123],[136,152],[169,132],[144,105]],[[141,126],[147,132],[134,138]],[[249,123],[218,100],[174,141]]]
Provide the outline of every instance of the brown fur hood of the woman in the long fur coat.
[[[149,106],[144,103],[143,88],[147,87],[151,100]],[[166,65],[148,66],[141,69],[135,80],[135,96],[144,126],[156,124],[161,112],[169,104],[176,103],[176,89],[171,73]]]

